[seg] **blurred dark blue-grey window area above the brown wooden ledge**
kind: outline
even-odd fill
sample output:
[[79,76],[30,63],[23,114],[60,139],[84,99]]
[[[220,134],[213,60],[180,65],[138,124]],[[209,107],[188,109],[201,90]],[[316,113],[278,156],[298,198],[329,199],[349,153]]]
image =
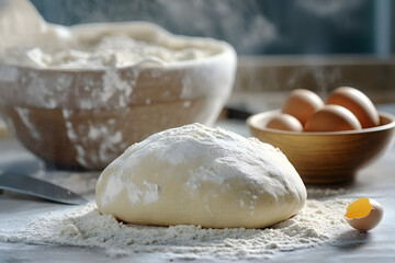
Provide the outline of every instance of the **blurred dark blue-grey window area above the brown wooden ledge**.
[[240,55],[394,52],[392,0],[32,0],[57,24],[150,21],[221,38]]

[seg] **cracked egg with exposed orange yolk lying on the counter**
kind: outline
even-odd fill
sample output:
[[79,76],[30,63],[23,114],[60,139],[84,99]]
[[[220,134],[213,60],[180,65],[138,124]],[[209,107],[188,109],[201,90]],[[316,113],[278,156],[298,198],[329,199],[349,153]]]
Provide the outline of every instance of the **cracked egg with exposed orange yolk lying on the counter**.
[[360,231],[368,231],[379,225],[384,209],[379,202],[370,198],[359,198],[351,203],[346,213],[346,220]]

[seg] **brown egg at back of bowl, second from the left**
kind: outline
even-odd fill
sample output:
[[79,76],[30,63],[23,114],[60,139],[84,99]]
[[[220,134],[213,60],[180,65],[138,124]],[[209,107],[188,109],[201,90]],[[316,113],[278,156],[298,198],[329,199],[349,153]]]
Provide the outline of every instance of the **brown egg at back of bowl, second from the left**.
[[304,126],[307,119],[323,106],[324,102],[316,93],[309,90],[296,89],[286,99],[282,113],[294,116]]

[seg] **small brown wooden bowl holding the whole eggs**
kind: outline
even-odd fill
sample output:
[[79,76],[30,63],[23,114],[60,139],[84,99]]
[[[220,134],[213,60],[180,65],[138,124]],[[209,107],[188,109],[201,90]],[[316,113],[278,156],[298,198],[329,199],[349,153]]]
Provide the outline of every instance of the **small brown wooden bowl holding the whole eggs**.
[[362,130],[296,133],[266,128],[279,111],[250,116],[252,136],[279,147],[305,183],[343,183],[359,169],[380,157],[393,142],[395,117],[380,113],[377,127]]

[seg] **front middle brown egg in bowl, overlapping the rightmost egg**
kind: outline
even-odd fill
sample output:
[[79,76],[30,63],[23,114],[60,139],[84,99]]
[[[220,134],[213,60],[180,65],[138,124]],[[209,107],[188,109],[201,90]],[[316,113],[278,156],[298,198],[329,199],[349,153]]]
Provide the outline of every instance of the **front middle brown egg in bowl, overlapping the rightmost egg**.
[[339,132],[361,129],[357,117],[346,107],[326,105],[307,121],[305,132]]

